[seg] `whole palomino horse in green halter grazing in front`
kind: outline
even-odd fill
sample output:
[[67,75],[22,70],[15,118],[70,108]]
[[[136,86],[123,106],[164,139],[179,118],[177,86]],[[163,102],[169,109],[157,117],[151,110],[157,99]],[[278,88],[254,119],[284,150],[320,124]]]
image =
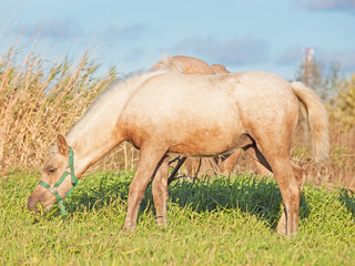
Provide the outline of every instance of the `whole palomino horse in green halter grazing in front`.
[[216,156],[242,147],[274,173],[284,203],[277,231],[296,233],[305,175],[291,163],[290,146],[298,100],[308,113],[313,155],[318,162],[328,154],[327,115],[316,93],[301,83],[258,71],[224,75],[153,71],[115,83],[99,95],[67,139],[58,137],[28,208],[41,203],[47,211],[58,197],[65,197],[73,183],[63,177],[68,164],[80,177],[114,146],[129,141],[140,149],[140,158],[124,229],[134,231],[151,178],[156,223],[166,226],[169,154]]

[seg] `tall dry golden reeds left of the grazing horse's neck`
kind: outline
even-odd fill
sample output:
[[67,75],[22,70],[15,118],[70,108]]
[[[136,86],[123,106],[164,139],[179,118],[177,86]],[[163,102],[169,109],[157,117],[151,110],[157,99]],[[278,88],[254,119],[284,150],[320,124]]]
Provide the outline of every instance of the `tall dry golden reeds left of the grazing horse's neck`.
[[14,49],[0,58],[0,168],[41,165],[58,133],[65,134],[114,78],[98,78],[84,54],[48,65],[36,54],[17,63]]

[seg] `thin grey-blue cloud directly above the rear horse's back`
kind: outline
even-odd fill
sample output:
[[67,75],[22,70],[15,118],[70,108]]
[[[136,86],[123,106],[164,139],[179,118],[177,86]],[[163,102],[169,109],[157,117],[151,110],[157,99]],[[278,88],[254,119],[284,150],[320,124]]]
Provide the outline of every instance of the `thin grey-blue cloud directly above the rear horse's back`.
[[224,41],[192,37],[173,45],[170,52],[194,54],[214,63],[242,65],[264,62],[268,57],[270,47],[266,41],[248,35]]

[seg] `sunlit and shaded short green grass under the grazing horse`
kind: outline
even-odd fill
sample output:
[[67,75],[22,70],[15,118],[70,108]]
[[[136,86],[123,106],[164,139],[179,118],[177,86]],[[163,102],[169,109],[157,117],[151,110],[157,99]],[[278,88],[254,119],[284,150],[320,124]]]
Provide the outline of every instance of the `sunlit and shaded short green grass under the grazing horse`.
[[67,217],[27,211],[38,175],[0,176],[0,265],[354,265],[355,196],[307,184],[296,237],[275,233],[274,180],[233,176],[173,183],[169,226],[155,226],[152,193],[134,234],[122,232],[132,173],[89,174]]

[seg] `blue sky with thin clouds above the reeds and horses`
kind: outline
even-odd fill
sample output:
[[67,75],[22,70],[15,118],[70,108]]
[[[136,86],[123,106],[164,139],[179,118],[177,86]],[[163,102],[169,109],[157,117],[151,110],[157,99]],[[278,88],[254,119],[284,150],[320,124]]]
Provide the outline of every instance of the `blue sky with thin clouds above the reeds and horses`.
[[103,68],[146,70],[164,53],[233,72],[295,76],[302,50],[355,72],[355,0],[0,0],[0,53],[19,43],[55,62],[87,50]]

